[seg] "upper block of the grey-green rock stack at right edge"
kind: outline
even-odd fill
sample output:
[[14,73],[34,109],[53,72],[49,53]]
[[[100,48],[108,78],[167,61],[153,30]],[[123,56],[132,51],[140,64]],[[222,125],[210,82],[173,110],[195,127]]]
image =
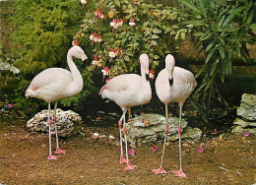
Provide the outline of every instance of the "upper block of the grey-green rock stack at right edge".
[[243,93],[237,115],[250,121],[256,120],[256,95]]

